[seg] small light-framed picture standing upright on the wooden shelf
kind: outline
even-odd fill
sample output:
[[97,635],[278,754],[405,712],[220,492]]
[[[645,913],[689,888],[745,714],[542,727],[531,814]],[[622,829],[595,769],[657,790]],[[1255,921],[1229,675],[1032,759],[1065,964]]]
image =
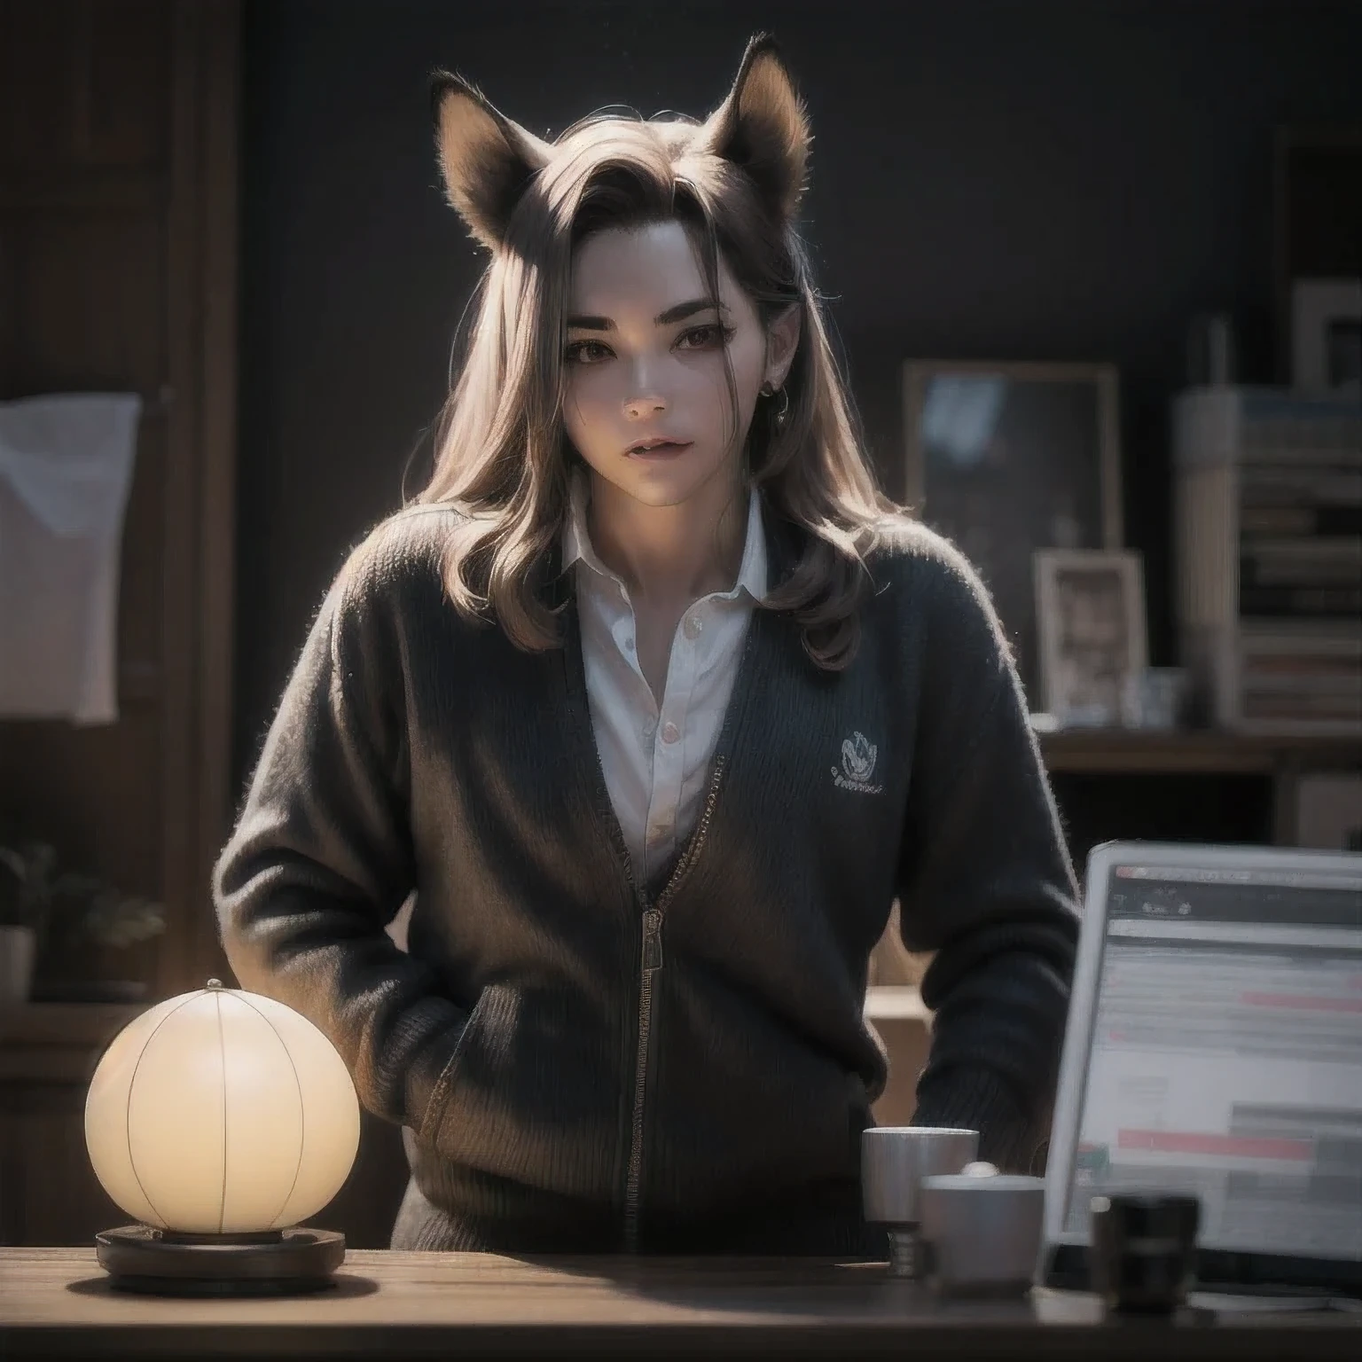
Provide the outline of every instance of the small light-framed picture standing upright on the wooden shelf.
[[1118,723],[1126,677],[1148,661],[1140,554],[1041,549],[1035,602],[1045,710],[1068,727]]

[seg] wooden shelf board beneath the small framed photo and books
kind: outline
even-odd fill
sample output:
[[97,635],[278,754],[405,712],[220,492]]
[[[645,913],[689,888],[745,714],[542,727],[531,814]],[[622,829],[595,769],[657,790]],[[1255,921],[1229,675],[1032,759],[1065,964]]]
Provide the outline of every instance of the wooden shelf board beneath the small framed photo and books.
[[1218,729],[1068,729],[1039,738],[1046,768],[1056,774],[1271,776],[1362,767],[1362,738],[1268,738]]

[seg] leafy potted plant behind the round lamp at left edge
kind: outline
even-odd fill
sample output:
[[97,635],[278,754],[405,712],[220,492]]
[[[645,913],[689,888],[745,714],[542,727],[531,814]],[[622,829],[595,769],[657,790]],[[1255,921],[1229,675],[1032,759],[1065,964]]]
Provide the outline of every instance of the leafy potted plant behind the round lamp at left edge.
[[0,1005],[29,1000],[35,964],[53,945],[121,949],[163,930],[159,903],[61,869],[46,842],[0,844]]

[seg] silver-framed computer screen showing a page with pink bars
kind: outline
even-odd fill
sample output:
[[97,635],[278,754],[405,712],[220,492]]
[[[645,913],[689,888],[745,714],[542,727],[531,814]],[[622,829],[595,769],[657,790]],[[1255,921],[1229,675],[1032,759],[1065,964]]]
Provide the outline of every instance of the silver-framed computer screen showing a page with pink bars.
[[1038,1282],[1103,1192],[1196,1194],[1207,1287],[1362,1295],[1362,855],[1092,851]]

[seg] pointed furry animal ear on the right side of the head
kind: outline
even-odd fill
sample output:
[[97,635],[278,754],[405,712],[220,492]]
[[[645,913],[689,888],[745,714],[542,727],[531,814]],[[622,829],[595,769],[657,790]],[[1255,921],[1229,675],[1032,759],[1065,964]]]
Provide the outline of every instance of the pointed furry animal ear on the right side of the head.
[[785,217],[794,212],[809,163],[809,121],[774,38],[757,34],[748,44],[727,99],[696,142],[746,170]]

